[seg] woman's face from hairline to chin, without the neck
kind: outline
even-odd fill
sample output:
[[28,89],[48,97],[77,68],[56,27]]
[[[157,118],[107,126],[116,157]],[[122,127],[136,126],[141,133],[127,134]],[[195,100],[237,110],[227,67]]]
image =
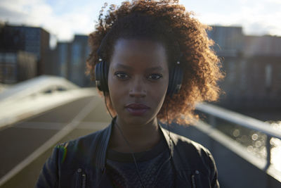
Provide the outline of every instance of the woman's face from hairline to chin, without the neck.
[[118,118],[128,125],[143,125],[156,118],[169,82],[166,51],[159,42],[118,39],[108,87]]

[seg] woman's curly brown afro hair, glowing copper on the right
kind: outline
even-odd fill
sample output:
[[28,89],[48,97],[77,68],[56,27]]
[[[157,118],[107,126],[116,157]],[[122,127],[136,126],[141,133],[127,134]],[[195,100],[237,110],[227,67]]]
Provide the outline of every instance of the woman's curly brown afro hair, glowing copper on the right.
[[[167,114],[170,120],[184,125],[197,120],[195,104],[216,101],[220,93],[218,81],[223,78],[221,61],[211,49],[214,42],[206,32],[209,27],[192,18],[192,13],[185,11],[178,1],[124,1],[119,7],[110,5],[104,16],[106,6],[100,11],[96,30],[89,35],[91,54],[87,59],[86,73],[91,75],[91,80],[95,80],[94,70],[100,56],[107,63],[110,62],[117,39],[162,42],[166,47],[169,65],[180,60],[184,75],[180,92],[172,98],[166,96],[157,118],[165,122]],[[102,55],[97,54],[98,49]],[[105,100],[112,114],[116,115],[108,94],[105,94]]]

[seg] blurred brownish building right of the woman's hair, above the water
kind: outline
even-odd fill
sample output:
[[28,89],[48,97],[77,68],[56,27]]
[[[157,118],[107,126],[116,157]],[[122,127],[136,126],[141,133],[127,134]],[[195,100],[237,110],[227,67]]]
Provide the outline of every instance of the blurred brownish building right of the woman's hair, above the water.
[[281,37],[243,35],[242,27],[212,26],[225,80],[219,105],[232,109],[281,108]]

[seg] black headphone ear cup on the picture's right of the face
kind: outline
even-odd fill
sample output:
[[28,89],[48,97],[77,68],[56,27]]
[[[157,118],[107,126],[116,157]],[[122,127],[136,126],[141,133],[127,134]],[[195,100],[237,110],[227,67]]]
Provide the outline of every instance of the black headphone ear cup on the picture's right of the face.
[[173,96],[177,94],[181,89],[183,82],[183,70],[179,65],[174,65],[169,69],[169,84],[167,89],[167,95]]

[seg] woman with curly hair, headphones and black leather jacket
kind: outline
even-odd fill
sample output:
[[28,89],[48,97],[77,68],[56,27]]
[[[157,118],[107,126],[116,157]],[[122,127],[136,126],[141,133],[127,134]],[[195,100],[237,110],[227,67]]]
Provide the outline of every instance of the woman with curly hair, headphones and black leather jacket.
[[218,98],[206,29],[178,1],[101,11],[87,67],[115,118],[56,146],[37,187],[219,187],[211,153],[159,125],[191,123],[196,102]]

